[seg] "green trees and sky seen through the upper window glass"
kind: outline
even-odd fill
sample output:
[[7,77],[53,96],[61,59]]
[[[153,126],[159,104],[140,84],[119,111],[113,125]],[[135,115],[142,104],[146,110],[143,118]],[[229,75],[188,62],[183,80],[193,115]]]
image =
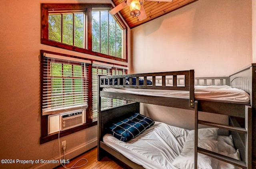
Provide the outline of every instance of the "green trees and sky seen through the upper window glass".
[[[50,14],[49,39],[85,47],[84,13]],[[92,12],[92,51],[122,58],[122,28],[107,10]]]

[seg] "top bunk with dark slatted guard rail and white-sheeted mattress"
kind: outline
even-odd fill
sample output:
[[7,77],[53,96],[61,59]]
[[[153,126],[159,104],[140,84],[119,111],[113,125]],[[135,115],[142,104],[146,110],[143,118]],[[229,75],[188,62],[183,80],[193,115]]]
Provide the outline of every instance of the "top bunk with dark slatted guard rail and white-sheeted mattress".
[[[236,75],[232,75],[232,82],[230,82],[231,77],[195,78],[194,70],[100,75],[98,90],[99,97],[188,110],[194,110],[194,102],[198,100],[199,111],[244,118],[244,113],[241,112],[245,111],[245,105],[251,105],[252,98],[250,93],[241,90],[238,84],[245,85],[241,85],[242,82],[234,76]],[[246,79],[251,77],[251,75],[246,76]],[[216,83],[218,86],[215,85]],[[238,88],[233,88],[230,84]]]

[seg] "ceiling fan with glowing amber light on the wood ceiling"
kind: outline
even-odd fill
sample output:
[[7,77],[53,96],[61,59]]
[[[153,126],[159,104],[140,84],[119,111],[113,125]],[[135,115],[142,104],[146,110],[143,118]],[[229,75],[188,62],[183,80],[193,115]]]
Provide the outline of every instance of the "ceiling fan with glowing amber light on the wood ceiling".
[[[143,4],[146,0],[125,0],[118,4],[115,8],[110,10],[109,14],[116,14],[126,6],[130,6],[131,16],[138,16],[139,21],[147,18],[146,12],[144,10]],[[148,1],[158,1],[158,2],[172,2],[173,0],[148,0]]]

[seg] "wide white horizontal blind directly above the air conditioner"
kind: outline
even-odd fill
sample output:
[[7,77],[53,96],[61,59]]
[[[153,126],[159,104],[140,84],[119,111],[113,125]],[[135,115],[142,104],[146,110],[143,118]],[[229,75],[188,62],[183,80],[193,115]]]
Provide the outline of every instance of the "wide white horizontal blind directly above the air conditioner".
[[42,114],[88,107],[86,63],[43,57]]

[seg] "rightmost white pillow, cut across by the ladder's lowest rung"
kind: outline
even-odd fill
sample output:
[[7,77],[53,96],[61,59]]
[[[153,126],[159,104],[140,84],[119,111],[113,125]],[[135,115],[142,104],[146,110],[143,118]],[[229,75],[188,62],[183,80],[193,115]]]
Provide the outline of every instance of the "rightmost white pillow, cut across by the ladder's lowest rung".
[[[237,149],[236,153],[228,153],[228,152],[219,152],[222,155],[226,155],[228,157],[234,158],[234,159],[240,159],[240,151]],[[241,169],[240,167],[237,167],[235,165],[226,163],[224,161],[219,161],[217,169]]]

